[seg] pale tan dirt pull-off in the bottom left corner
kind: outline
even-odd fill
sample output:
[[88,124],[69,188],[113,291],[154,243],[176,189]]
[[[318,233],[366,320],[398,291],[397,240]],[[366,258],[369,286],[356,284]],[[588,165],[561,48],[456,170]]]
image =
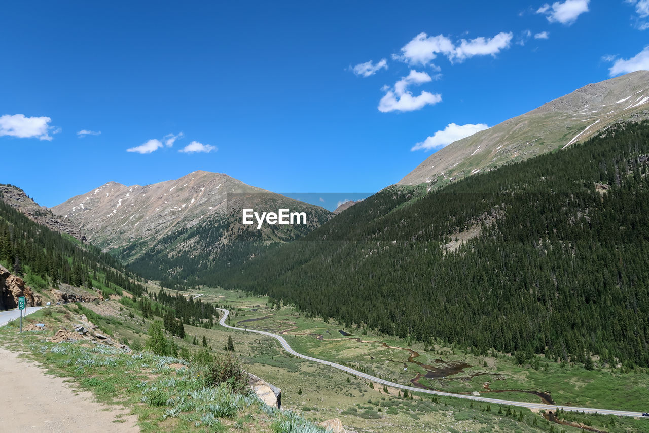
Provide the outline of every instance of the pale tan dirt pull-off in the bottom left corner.
[[0,347],[0,432],[140,431],[136,416],[93,401],[92,393],[75,393],[64,380]]

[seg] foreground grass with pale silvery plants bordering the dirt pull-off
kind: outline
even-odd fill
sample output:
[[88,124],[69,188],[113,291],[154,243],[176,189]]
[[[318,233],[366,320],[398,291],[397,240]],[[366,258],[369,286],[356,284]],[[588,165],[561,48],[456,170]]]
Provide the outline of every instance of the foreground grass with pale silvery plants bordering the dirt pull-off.
[[[57,319],[61,317],[53,317],[49,324]],[[49,373],[72,378],[100,402],[130,408],[145,432],[214,432],[237,426],[242,431],[324,431],[295,413],[266,406],[252,393],[234,393],[226,383],[209,386],[206,367],[191,361],[149,352],[128,354],[84,340],[51,343],[43,339],[51,334],[19,335],[12,327],[0,329],[3,343],[28,350],[29,358],[43,363]]]

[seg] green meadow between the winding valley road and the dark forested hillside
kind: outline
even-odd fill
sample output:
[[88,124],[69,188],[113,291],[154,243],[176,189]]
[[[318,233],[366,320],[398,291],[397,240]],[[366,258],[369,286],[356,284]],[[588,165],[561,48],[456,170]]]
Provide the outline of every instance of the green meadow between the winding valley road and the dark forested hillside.
[[[212,289],[211,296],[217,297],[219,291]],[[240,294],[239,294],[240,295]],[[263,298],[254,298],[260,302]],[[239,299],[230,296],[229,302],[237,305]],[[637,367],[629,373],[620,369],[602,369],[587,371],[583,365],[567,365],[553,361],[547,362],[540,356],[541,369],[535,370],[531,365],[516,365],[509,354],[494,353],[495,356],[476,356],[458,347],[435,344],[424,347],[422,343],[412,343],[407,339],[398,339],[389,335],[376,335],[371,332],[363,335],[362,329],[345,328],[341,324],[325,323],[322,319],[306,318],[292,308],[269,309],[264,307],[250,311],[249,300],[241,298],[239,305],[247,306],[237,311],[230,324],[270,332],[285,332],[284,337],[297,352],[322,358],[324,360],[345,363],[361,371],[387,378],[393,382],[408,384],[417,373],[426,370],[408,362],[412,349],[419,352],[417,361],[436,365],[435,360],[465,362],[471,365],[459,374],[439,380],[422,380],[421,383],[434,389],[451,392],[484,393],[484,382],[490,382],[490,389],[543,391],[552,395],[556,404],[561,406],[588,406],[620,410],[645,411],[649,409],[649,369]],[[262,321],[241,322],[270,316]],[[345,330],[351,337],[344,337],[338,330]],[[323,339],[317,339],[322,335]],[[380,341],[391,347],[386,348],[378,343],[361,343],[354,341],[360,337],[363,341]],[[432,350],[431,350],[432,349]],[[485,362],[487,367],[484,367]],[[407,370],[404,371],[404,366]],[[441,365],[443,366],[443,365]],[[470,378],[474,373],[489,373]],[[496,399],[513,399],[520,401],[540,402],[539,397],[520,392],[488,393]]]

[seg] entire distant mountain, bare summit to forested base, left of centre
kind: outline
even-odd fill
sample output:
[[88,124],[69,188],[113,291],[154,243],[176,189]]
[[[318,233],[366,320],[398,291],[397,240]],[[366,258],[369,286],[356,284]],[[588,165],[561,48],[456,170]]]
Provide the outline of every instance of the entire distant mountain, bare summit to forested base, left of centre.
[[[256,223],[241,224],[243,208],[260,214],[280,208],[303,211],[306,224],[263,224],[257,230]],[[53,211],[79,224],[93,244],[147,278],[178,283],[293,241],[332,216],[322,207],[204,171],[153,185],[109,182]]]

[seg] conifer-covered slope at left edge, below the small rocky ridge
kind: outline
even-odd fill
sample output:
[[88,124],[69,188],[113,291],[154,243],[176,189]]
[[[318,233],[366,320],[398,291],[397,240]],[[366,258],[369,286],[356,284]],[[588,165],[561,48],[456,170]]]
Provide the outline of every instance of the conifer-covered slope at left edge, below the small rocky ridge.
[[[22,190],[10,188],[21,196]],[[0,200],[0,309],[14,308],[17,296],[38,303],[32,289],[62,302],[121,296],[123,290],[142,293],[141,278],[114,257],[34,221],[6,198]]]

